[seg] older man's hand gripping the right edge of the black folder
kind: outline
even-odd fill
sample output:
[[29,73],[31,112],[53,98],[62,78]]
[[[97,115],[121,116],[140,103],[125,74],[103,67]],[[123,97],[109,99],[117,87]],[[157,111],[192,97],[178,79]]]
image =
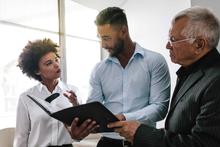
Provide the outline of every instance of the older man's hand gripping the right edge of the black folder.
[[133,143],[134,135],[140,126],[138,121],[117,121],[108,124],[108,128],[114,128],[114,131],[125,137],[127,141]]

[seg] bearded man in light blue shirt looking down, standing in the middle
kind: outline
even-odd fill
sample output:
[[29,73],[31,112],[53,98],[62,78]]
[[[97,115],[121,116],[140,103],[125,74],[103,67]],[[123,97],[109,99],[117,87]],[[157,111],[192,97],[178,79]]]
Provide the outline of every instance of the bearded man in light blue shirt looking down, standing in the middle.
[[[120,120],[138,120],[155,127],[166,116],[170,98],[164,57],[131,40],[123,9],[104,9],[95,23],[101,46],[110,56],[94,68],[87,102],[103,103]],[[126,143],[116,133],[104,133],[97,147],[123,147]]]

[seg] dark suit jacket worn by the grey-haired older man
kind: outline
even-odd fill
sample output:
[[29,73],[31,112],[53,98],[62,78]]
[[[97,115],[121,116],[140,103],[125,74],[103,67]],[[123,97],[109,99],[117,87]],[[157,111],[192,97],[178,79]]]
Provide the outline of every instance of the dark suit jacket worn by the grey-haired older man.
[[191,73],[172,98],[165,129],[141,125],[134,147],[220,147],[220,55]]

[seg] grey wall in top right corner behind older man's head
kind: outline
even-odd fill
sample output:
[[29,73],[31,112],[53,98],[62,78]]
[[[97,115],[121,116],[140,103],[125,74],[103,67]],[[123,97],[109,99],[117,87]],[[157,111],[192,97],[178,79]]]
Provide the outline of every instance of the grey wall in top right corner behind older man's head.
[[[215,13],[218,19],[220,19],[219,0],[191,0],[191,5],[209,8],[211,11]],[[218,45],[218,50],[220,51],[220,44]]]

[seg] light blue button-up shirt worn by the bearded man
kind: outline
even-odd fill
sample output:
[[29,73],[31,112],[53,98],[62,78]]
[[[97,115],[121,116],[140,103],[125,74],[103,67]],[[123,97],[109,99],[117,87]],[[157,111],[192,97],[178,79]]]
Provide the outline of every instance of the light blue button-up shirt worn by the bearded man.
[[87,102],[99,101],[112,113],[124,114],[126,120],[155,126],[168,110],[170,76],[167,63],[162,55],[137,43],[125,68],[116,57],[98,63],[91,74],[90,88]]

